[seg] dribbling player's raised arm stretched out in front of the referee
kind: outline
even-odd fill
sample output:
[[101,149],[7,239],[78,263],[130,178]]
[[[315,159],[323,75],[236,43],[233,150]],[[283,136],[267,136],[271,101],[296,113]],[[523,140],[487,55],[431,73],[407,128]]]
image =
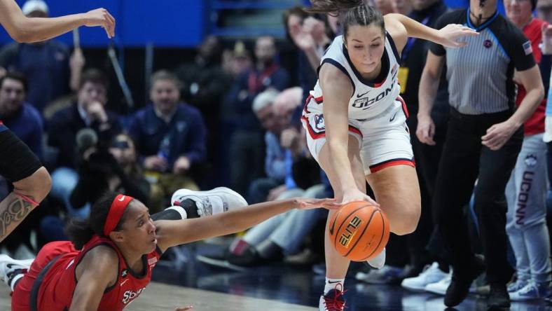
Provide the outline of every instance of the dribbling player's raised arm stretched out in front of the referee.
[[458,41],[459,39],[465,36],[478,35],[478,32],[474,29],[457,24],[446,25],[441,29],[433,29],[402,14],[390,13],[385,15],[384,19],[385,29],[392,36],[398,50],[402,50],[406,45],[409,36],[433,41],[449,48],[460,48],[466,46],[467,43]]

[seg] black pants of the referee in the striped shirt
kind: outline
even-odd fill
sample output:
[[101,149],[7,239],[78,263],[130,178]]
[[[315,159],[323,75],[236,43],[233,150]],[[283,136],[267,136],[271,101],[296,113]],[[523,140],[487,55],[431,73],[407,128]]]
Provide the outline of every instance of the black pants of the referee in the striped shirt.
[[[506,284],[513,269],[506,261],[506,198],[504,188],[523,141],[523,128],[502,148],[491,151],[481,144],[487,129],[511,116],[511,111],[478,116],[451,109],[443,154],[439,163],[433,200],[434,219],[439,225],[455,277],[462,279],[474,269],[467,219],[462,207],[474,193],[474,209],[490,283]],[[474,183],[478,180],[477,185]]]

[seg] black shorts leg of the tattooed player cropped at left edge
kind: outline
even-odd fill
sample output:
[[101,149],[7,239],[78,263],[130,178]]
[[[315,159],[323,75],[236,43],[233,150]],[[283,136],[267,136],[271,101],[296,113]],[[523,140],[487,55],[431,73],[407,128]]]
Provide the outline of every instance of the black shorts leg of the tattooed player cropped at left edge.
[[15,182],[42,166],[39,158],[0,120],[0,176]]

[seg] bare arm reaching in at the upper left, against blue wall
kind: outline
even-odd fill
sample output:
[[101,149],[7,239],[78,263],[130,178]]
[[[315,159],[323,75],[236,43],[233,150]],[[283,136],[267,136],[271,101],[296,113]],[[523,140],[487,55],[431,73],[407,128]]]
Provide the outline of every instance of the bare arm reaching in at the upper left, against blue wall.
[[0,0],[0,24],[18,42],[39,42],[80,26],[101,26],[107,36],[115,35],[115,19],[104,8],[59,18],[27,18],[14,0]]

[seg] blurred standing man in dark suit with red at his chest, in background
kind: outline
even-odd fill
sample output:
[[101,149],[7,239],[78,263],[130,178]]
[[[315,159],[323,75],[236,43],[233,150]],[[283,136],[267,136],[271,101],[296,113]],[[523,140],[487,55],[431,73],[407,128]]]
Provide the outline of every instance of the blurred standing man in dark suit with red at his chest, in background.
[[225,111],[231,113],[234,132],[230,137],[230,183],[238,193],[246,193],[251,181],[263,174],[263,133],[251,110],[253,99],[267,88],[283,90],[289,75],[275,57],[274,38],[261,36],[255,43],[255,67],[235,81],[225,100]]

